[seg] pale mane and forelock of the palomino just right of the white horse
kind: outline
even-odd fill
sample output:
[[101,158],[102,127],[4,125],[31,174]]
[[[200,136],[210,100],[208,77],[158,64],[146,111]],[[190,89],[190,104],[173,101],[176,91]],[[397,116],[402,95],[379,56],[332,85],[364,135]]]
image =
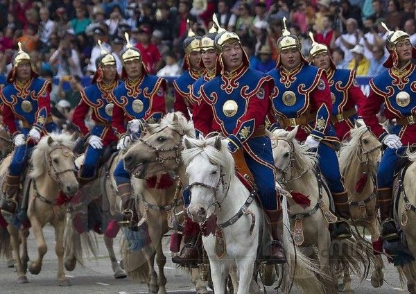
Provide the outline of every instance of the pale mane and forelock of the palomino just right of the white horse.
[[[277,129],[272,132],[272,140],[273,137],[288,139],[289,133],[287,130]],[[308,151],[306,146],[301,145],[295,138],[292,139],[292,143],[296,170],[304,171],[315,168],[318,164],[318,155],[313,151]]]

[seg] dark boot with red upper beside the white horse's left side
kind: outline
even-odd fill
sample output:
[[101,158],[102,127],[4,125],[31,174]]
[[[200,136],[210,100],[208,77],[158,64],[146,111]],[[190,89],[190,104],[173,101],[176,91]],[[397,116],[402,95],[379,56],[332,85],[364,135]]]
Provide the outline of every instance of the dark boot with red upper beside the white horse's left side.
[[200,236],[200,227],[194,223],[189,216],[185,216],[184,247],[180,255],[172,257],[172,262],[189,268],[198,268],[199,252],[196,246]]

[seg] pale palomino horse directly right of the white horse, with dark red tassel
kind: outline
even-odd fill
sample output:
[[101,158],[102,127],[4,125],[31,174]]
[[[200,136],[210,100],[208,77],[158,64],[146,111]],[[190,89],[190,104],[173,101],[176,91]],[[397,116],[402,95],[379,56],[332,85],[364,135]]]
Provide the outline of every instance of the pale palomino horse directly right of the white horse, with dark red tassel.
[[[275,130],[269,134],[277,180],[291,191],[287,201],[295,243],[304,250],[312,250],[310,255],[318,259],[321,270],[327,276],[333,277],[335,270],[342,272],[351,268],[364,279],[367,268],[374,263],[372,248],[353,239],[331,241],[329,223],[337,218],[329,210],[332,207],[329,191],[318,169],[315,152],[301,146],[295,139],[296,133],[297,127],[290,132]],[[341,252],[334,252],[336,249]],[[369,265],[366,264],[368,261]],[[363,273],[361,268],[365,269]],[[327,279],[325,285],[327,293],[336,291],[331,279]]]

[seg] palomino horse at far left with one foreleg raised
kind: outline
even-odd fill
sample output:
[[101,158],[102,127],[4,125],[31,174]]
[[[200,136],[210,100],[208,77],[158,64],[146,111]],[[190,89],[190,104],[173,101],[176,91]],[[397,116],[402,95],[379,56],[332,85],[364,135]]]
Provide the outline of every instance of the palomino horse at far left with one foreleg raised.
[[[31,184],[28,188],[28,210],[27,216],[31,223],[33,234],[37,243],[38,257],[34,259],[29,271],[33,275],[40,273],[42,268],[42,259],[46,254],[47,246],[44,239],[42,228],[46,223],[50,223],[55,229],[55,253],[58,257],[58,282],[62,286],[69,286],[70,282],[64,275],[64,223],[66,203],[57,205],[57,200],[64,198],[62,192],[72,196],[78,189],[78,182],[74,175],[73,164],[73,139],[66,134],[50,134],[43,137],[31,156],[31,166],[33,170],[28,176],[31,178]],[[7,157],[0,165],[0,174],[4,175],[10,164],[10,156]],[[4,178],[1,180],[3,183]],[[64,201],[63,201],[64,202]],[[20,257],[19,250],[19,231],[21,243],[23,245],[23,260]],[[11,237],[12,249],[17,264],[17,281],[19,283],[28,282],[26,278],[26,263],[28,261],[26,237],[28,229],[25,232],[19,230],[15,225],[8,225],[8,232]]]

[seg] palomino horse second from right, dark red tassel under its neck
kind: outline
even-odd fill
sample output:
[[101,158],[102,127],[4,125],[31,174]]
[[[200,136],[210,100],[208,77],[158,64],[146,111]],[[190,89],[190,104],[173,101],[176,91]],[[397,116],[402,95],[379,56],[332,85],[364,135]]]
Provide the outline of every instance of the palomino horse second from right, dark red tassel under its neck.
[[[345,189],[349,191],[349,210],[352,223],[370,230],[374,251],[383,250],[376,218],[376,173],[381,159],[381,143],[366,126],[356,122],[351,130],[351,140],[340,151],[340,171]],[[344,281],[351,281],[347,271]],[[376,254],[376,264],[371,277],[375,288],[383,285],[383,260]],[[344,291],[351,284],[345,284]]]

